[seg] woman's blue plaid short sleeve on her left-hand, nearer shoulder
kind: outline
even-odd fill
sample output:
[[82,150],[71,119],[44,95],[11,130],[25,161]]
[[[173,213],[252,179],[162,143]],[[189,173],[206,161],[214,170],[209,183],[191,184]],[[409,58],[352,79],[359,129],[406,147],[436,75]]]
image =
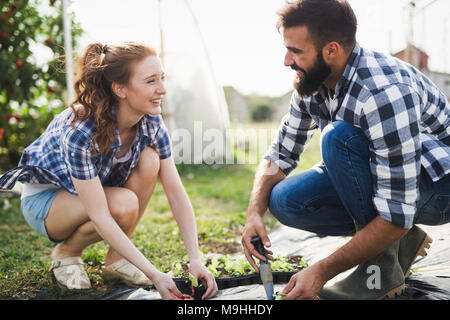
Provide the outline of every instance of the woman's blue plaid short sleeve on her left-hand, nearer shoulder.
[[79,180],[90,180],[97,177],[97,167],[92,157],[91,138],[82,130],[70,127],[62,139],[62,153],[72,177]]

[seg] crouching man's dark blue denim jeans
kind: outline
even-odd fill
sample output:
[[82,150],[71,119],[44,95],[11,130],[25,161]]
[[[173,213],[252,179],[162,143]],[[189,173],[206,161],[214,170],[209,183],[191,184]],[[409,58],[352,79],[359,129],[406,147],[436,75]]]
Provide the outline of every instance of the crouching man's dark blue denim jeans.
[[[323,162],[279,182],[269,210],[282,224],[330,236],[352,234],[377,216],[372,202],[369,141],[346,122],[322,133]],[[450,222],[450,175],[432,182],[422,167],[415,224]]]

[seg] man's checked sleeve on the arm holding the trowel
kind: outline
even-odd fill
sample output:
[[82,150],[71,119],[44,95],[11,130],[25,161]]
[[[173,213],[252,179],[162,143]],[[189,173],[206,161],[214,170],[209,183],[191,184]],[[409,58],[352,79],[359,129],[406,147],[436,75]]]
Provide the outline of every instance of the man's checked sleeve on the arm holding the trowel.
[[294,91],[289,112],[283,117],[278,133],[264,159],[275,163],[285,175],[289,175],[298,164],[318,125],[306,111],[306,103]]

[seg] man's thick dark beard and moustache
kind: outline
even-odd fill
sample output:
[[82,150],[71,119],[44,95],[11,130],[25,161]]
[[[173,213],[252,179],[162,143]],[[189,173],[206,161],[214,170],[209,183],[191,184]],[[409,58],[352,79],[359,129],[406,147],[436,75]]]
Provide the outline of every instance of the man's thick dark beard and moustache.
[[291,68],[303,73],[301,76],[296,77],[294,81],[294,88],[302,98],[307,98],[319,90],[320,85],[331,73],[331,68],[325,63],[321,51],[319,51],[316,62],[314,62],[308,72],[295,63]]

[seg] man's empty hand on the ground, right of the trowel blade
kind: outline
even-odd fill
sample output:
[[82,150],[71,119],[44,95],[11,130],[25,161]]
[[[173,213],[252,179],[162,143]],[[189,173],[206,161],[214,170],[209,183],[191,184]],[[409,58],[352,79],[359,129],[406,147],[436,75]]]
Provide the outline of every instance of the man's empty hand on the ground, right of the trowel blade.
[[283,293],[287,295],[283,300],[313,300],[327,282],[319,266],[314,264],[294,274]]

